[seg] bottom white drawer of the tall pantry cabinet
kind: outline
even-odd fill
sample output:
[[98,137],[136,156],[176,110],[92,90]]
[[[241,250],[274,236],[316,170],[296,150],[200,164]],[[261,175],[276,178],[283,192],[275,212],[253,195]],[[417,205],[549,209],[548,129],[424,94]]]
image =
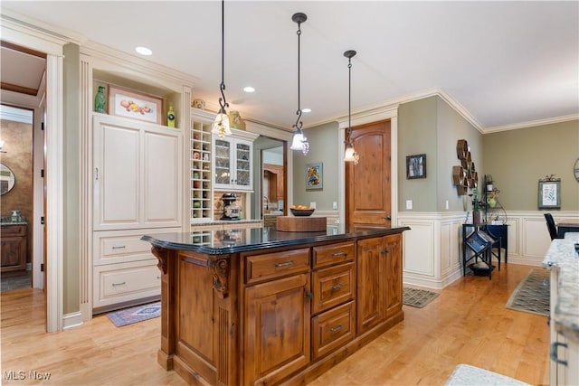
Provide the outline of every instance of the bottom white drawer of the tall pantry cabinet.
[[93,308],[161,294],[157,259],[93,268]]

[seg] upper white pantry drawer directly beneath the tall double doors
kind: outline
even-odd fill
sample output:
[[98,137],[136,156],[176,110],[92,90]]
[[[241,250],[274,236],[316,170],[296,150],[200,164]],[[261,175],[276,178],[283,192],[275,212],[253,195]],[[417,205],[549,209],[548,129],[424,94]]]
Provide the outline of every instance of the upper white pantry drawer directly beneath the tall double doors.
[[126,263],[129,261],[155,260],[151,244],[140,240],[144,234],[179,232],[180,228],[161,228],[140,231],[94,232],[93,266]]

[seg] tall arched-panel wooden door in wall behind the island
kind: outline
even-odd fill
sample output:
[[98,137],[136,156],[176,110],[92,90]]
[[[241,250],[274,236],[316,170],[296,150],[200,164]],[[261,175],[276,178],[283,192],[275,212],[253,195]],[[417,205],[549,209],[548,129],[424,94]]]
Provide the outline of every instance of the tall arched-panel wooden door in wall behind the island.
[[390,228],[390,120],[353,127],[352,138],[360,161],[346,163],[348,229]]

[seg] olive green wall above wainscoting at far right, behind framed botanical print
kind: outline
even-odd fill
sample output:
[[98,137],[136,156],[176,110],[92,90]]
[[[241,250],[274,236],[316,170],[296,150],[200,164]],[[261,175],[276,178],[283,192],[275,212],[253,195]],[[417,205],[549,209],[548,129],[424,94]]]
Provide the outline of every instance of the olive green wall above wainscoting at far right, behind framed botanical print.
[[538,180],[561,178],[561,210],[579,211],[579,183],[573,166],[579,157],[579,120],[486,134],[484,166],[508,211],[538,210]]

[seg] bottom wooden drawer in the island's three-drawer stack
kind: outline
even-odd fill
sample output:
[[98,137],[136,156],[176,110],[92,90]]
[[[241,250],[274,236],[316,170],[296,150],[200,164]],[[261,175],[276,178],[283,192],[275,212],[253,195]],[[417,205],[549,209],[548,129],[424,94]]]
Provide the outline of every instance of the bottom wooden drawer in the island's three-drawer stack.
[[312,355],[314,359],[331,353],[355,335],[356,307],[351,301],[311,319]]

